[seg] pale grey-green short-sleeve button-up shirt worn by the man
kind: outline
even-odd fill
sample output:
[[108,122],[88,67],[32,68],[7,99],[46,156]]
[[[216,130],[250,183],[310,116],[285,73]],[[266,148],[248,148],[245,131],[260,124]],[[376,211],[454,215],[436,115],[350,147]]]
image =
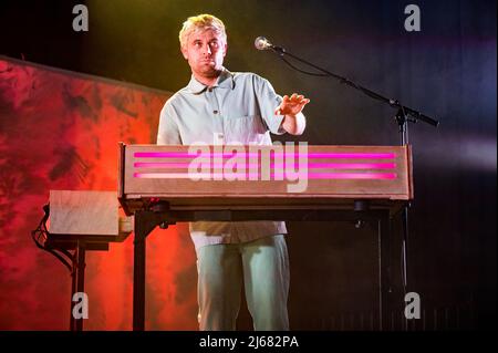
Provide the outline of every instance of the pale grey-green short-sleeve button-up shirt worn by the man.
[[[271,145],[270,132],[283,134],[282,102],[268,80],[255,73],[224,70],[211,87],[194,76],[160,112],[158,145]],[[189,225],[196,249],[215,243],[246,242],[287,233],[283,221],[197,221]]]

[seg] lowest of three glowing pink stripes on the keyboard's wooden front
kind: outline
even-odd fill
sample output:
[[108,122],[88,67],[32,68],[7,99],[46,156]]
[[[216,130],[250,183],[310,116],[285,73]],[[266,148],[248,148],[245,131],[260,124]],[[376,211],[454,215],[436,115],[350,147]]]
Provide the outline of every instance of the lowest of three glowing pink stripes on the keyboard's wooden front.
[[[242,179],[260,179],[259,174],[229,174],[231,177],[239,177]],[[134,178],[149,178],[149,179],[193,179],[193,178],[206,178],[206,179],[222,179],[225,175],[222,173],[195,173],[190,176],[188,173],[135,173]],[[395,173],[309,173],[308,179],[395,179],[397,175]],[[270,175],[270,178],[274,178],[274,174]],[[305,179],[305,178],[301,178]],[[250,180],[249,180],[250,181]]]

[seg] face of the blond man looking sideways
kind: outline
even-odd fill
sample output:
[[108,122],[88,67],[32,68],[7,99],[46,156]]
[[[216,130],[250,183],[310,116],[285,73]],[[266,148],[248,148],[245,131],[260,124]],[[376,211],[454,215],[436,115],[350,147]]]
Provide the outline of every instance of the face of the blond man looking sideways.
[[181,48],[195,77],[214,79],[222,69],[227,54],[227,43],[211,29],[195,30],[188,35],[187,44]]

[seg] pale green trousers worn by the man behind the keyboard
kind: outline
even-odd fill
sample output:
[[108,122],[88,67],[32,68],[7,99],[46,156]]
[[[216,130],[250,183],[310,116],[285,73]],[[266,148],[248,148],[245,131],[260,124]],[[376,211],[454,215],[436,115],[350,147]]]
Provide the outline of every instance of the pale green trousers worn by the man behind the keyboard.
[[241,289],[257,331],[289,330],[289,256],[283,235],[197,250],[200,330],[236,330]]

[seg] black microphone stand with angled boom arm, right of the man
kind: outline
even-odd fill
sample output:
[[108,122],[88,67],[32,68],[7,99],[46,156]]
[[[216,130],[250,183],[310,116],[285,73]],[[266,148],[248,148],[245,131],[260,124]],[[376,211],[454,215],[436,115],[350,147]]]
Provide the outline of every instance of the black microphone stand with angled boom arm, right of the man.
[[[423,121],[424,123],[427,123],[429,125],[433,125],[435,127],[437,127],[439,125],[439,122],[425,115],[422,114],[421,112],[417,112],[411,107],[407,107],[403,104],[401,104],[397,100],[393,100],[393,98],[386,98],[383,95],[373,92],[369,89],[365,89],[343,76],[340,76],[338,74],[334,74],[325,69],[322,69],[315,64],[310,63],[309,61],[305,61],[301,58],[298,58],[291,53],[289,53],[286,49],[281,48],[281,46],[277,46],[277,45],[272,45],[272,44],[268,44],[268,48],[273,50],[279,56],[280,59],[282,59],[289,66],[291,66],[292,69],[309,74],[309,75],[313,75],[313,76],[331,76],[334,77],[336,80],[339,80],[341,83],[344,83],[353,89],[356,89],[361,92],[363,92],[364,94],[366,94],[367,96],[384,102],[386,104],[388,104],[390,106],[392,106],[393,108],[397,110],[396,111],[396,115],[395,115],[395,120],[396,123],[400,126],[400,135],[401,135],[401,145],[405,146],[408,145],[408,122],[411,123],[416,123],[417,121]],[[312,73],[312,72],[308,72],[308,71],[303,71],[300,70],[298,68],[295,68],[294,65],[292,65],[288,60],[286,60],[284,55],[288,55],[299,62],[302,62],[313,69],[317,69],[319,71],[321,71],[322,73]],[[402,271],[403,271],[403,292],[404,295],[406,295],[406,293],[408,292],[407,288],[408,288],[408,207],[409,207],[409,203],[407,205],[405,205],[403,207],[402,210],[402,222],[403,222],[403,242],[402,242]],[[406,330],[408,330],[408,321],[405,321],[406,324]]]

